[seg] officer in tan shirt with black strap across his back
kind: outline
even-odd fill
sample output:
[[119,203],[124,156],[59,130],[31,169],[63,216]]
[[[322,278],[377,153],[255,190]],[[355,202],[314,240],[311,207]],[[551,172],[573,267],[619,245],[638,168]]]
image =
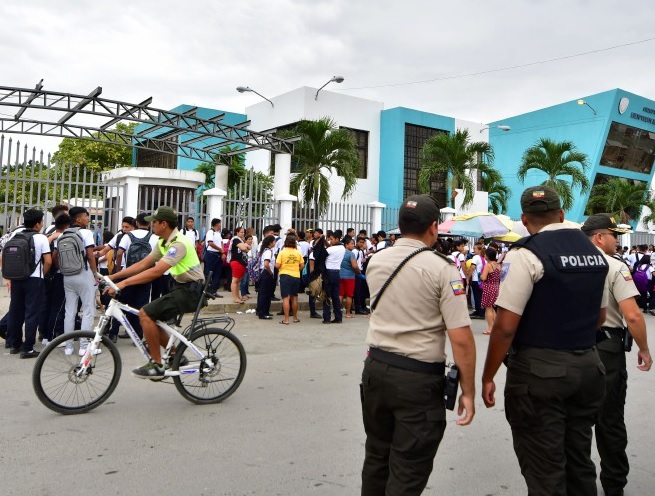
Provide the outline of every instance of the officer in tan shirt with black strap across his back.
[[428,195],[410,196],[398,217],[402,238],[373,255],[366,272],[375,306],[361,385],[366,496],[417,495],[428,482],[446,428],[446,332],[461,373],[457,423],[468,425],[475,413],[466,291],[452,262],[429,249],[437,240],[439,207]]

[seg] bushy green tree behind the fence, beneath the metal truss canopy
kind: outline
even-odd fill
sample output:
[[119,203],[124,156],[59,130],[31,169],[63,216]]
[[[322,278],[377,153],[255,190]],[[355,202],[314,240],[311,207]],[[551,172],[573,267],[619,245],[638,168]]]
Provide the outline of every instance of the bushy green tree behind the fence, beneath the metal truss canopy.
[[[134,134],[136,125],[136,122],[129,124],[119,122],[113,131]],[[93,136],[101,141],[64,138],[59,144],[59,149],[54,153],[53,160],[58,163],[79,165],[94,172],[132,165],[131,147],[112,143],[99,133],[93,133]]]

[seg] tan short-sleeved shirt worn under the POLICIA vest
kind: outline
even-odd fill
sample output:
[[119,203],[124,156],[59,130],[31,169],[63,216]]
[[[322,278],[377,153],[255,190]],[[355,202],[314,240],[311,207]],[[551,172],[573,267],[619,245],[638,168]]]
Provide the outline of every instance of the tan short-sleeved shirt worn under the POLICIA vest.
[[[545,226],[540,232],[558,229],[571,228],[565,224],[556,223]],[[537,255],[523,248],[510,250],[503,259],[503,268],[500,273],[500,292],[496,305],[517,315],[523,315],[523,311],[532,296],[532,288],[543,276],[544,265]],[[606,278],[601,308],[607,307],[608,294]]]

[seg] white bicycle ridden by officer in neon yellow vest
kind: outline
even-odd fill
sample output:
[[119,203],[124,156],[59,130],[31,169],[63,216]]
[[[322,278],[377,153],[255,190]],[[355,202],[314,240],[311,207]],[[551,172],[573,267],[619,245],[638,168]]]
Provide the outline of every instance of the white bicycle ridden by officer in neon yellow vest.
[[[115,291],[116,285],[106,276],[98,275]],[[211,276],[210,276],[211,278]],[[213,404],[232,395],[241,385],[246,372],[246,352],[241,341],[232,334],[234,319],[227,316],[198,318],[205,306],[209,278],[203,289],[191,324],[180,332],[180,315],[173,326],[157,321],[169,336],[162,353],[165,364],[163,377],[153,382],[173,380],[178,392],[196,404]],[[107,305],[93,331],[74,331],[58,336],[41,352],[32,372],[34,391],[46,407],[64,415],[86,413],[105,402],[116,389],[121,375],[118,348],[105,335],[111,318],[118,319],[137,349],[146,360],[152,360],[146,343],[137,335],[125,312],[138,315],[139,311],[116,298]],[[222,327],[210,327],[222,324]],[[90,340],[86,352],[66,355],[66,343]],[[173,346],[175,346],[173,352]],[[74,349],[74,348],[73,348]]]

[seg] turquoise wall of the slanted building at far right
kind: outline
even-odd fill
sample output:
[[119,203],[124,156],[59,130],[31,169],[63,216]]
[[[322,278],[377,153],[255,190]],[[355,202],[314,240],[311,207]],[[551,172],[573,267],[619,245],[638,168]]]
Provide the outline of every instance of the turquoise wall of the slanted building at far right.
[[[630,100],[627,111],[619,113],[619,101],[627,97]],[[508,215],[518,218],[521,214],[521,192],[529,187],[541,184],[546,175],[538,171],[530,171],[523,183],[516,177],[516,171],[521,163],[525,150],[533,146],[541,138],[550,138],[555,141],[571,141],[581,152],[587,154],[589,168],[587,176],[593,185],[597,173],[617,177],[626,177],[646,181],[650,187],[653,173],[639,174],[612,167],[600,166],[600,158],[605,146],[605,140],[612,121],[628,126],[655,132],[655,115],[642,111],[643,107],[655,108],[655,102],[628,93],[621,89],[614,89],[596,95],[583,97],[593,109],[587,105],[579,105],[576,100],[561,103],[527,114],[508,117],[491,123],[491,126],[509,125],[511,130],[501,132],[496,130],[490,134],[489,141],[496,154],[496,168],[512,191],[509,201]],[[631,117],[632,113],[645,115],[653,119],[653,124]],[[574,191],[575,203],[571,210],[566,212],[570,220],[581,222],[584,220],[584,209],[589,199],[590,191],[580,193]]]

